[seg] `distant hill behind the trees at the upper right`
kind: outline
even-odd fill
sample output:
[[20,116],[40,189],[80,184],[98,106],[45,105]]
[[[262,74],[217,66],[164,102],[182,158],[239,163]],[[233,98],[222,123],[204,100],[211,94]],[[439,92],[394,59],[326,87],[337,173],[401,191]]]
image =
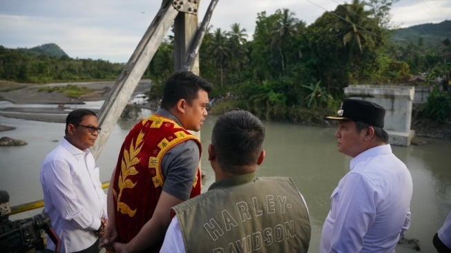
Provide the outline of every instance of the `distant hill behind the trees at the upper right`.
[[445,20],[439,24],[421,24],[408,28],[391,30],[390,41],[396,45],[425,47],[425,49],[437,49],[445,39],[451,39],[451,20]]

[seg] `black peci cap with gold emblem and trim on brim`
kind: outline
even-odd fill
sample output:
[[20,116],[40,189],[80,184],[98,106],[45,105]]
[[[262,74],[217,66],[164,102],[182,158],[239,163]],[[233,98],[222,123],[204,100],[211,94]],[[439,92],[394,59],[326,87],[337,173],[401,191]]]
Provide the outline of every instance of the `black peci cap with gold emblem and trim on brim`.
[[345,98],[341,102],[336,116],[326,117],[327,120],[360,121],[374,127],[384,127],[385,109],[370,101]]

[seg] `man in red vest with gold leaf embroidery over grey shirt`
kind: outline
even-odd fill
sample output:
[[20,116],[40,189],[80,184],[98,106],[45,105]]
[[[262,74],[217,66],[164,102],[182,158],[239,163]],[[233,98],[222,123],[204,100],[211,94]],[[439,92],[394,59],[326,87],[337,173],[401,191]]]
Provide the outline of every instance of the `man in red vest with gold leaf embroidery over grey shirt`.
[[108,188],[108,250],[158,252],[171,207],[200,194],[202,148],[187,130],[200,131],[211,86],[189,71],[175,72],[161,109],[126,136]]

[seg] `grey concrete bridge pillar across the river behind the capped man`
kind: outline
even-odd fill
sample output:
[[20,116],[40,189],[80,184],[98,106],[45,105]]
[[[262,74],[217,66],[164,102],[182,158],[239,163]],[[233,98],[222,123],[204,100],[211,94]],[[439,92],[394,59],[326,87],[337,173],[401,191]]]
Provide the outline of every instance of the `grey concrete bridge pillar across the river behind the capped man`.
[[347,97],[368,100],[385,108],[384,129],[389,135],[389,143],[409,146],[414,131],[412,123],[413,86],[349,85],[345,88]]

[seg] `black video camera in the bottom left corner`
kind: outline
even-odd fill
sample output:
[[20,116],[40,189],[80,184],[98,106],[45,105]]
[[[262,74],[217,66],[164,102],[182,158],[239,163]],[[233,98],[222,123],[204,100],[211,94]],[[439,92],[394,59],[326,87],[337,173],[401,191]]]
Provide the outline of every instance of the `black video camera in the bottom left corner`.
[[27,252],[45,249],[43,231],[55,243],[55,252],[59,253],[61,243],[50,223],[48,214],[37,214],[32,218],[10,221],[10,196],[7,191],[0,191],[0,249],[5,253]]

